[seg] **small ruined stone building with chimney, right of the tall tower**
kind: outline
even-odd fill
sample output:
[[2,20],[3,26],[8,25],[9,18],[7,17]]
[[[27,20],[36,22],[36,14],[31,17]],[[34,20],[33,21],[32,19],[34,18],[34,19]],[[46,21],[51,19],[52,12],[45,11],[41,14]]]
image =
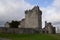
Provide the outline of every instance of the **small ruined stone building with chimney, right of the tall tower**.
[[43,33],[47,33],[47,34],[55,34],[56,30],[55,27],[53,27],[52,23],[47,23],[45,21],[45,27],[43,28]]

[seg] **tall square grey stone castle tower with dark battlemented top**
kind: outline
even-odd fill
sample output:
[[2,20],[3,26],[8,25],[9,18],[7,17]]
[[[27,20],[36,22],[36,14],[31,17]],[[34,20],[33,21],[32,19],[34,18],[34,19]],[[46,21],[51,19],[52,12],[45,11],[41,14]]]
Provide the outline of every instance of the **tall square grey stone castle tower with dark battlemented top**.
[[25,28],[42,29],[42,11],[38,6],[25,11]]

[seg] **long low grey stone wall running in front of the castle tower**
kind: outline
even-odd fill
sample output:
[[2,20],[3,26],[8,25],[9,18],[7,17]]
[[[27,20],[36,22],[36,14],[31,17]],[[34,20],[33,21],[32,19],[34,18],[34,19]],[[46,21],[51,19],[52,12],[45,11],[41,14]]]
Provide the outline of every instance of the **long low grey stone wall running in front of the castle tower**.
[[0,28],[0,33],[9,33],[9,34],[32,34],[38,33],[35,29],[32,28]]

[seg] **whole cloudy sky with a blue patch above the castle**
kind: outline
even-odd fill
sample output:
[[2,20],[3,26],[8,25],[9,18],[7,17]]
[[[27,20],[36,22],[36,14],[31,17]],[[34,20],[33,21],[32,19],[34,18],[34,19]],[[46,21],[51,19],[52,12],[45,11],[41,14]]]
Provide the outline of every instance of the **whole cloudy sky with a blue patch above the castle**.
[[21,20],[25,17],[24,11],[35,5],[43,12],[43,25],[48,21],[60,27],[60,0],[0,0],[0,26],[6,21]]

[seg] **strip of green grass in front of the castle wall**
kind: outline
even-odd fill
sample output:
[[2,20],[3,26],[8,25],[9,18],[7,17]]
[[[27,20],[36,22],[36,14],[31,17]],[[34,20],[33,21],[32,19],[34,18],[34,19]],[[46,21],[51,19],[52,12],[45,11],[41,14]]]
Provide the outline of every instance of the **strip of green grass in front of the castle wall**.
[[12,40],[60,40],[58,34],[0,34],[0,38]]

